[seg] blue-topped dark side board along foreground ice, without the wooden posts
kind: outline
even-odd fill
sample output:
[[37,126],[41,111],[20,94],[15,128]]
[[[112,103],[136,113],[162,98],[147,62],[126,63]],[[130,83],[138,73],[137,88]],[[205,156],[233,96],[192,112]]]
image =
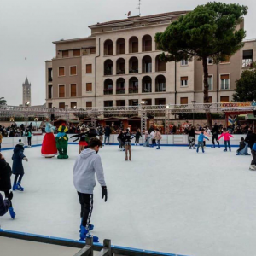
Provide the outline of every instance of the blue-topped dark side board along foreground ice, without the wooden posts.
[[[66,239],[66,238],[60,238],[55,236],[42,236],[42,235],[35,235],[30,233],[23,233],[18,231],[12,231],[12,230],[1,230],[0,229],[0,238],[1,236],[12,238],[12,239],[20,239],[24,241],[35,241],[35,242],[42,242],[47,244],[52,244],[56,246],[64,246],[64,247],[76,247],[76,248],[84,248],[85,242],[84,241],[78,241],[78,240],[72,240],[72,239]],[[102,243],[93,243],[92,249],[94,251],[101,251],[103,249]],[[111,246],[111,253],[113,254],[119,254],[120,256],[185,256],[180,254],[173,254],[173,253],[160,253],[160,252],[154,252],[154,251],[148,251],[148,250],[142,250],[137,248],[131,248],[131,247],[119,247],[119,246]],[[72,256],[72,255],[71,255]],[[187,255],[188,256],[188,255]]]

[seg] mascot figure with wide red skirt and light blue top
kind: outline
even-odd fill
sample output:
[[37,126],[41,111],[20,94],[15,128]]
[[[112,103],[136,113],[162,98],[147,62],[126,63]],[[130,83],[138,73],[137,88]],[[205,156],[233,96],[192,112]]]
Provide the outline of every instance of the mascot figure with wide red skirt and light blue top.
[[47,123],[45,125],[46,133],[44,135],[44,140],[41,148],[41,154],[46,158],[55,157],[55,155],[58,154],[54,136],[55,129],[55,126],[51,125],[49,123],[49,120],[47,120]]

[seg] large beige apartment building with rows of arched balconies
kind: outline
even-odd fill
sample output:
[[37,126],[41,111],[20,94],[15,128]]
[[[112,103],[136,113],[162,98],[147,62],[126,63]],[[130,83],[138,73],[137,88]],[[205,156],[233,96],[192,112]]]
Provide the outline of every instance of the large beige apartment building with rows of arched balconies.
[[[187,104],[203,102],[201,61],[160,61],[156,32],[187,11],[133,16],[89,26],[88,38],[53,42],[55,57],[46,61],[48,108]],[[241,23],[239,27],[243,27]],[[256,60],[256,40],[215,65],[208,59],[209,96],[229,102],[241,72]]]

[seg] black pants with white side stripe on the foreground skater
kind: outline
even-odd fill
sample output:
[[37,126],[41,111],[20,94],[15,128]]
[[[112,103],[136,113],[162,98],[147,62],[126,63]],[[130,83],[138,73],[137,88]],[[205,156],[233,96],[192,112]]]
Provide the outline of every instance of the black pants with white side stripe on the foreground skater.
[[93,209],[93,194],[83,194],[78,192],[79,203],[81,205],[80,217],[82,218],[82,225],[89,230],[90,217]]

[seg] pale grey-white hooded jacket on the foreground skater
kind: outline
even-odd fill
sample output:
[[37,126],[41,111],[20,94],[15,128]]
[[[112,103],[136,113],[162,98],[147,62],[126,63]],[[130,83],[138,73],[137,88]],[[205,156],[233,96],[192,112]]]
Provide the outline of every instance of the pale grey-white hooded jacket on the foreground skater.
[[95,150],[84,149],[73,166],[73,184],[78,192],[93,194],[95,174],[101,186],[106,186],[102,160]]

